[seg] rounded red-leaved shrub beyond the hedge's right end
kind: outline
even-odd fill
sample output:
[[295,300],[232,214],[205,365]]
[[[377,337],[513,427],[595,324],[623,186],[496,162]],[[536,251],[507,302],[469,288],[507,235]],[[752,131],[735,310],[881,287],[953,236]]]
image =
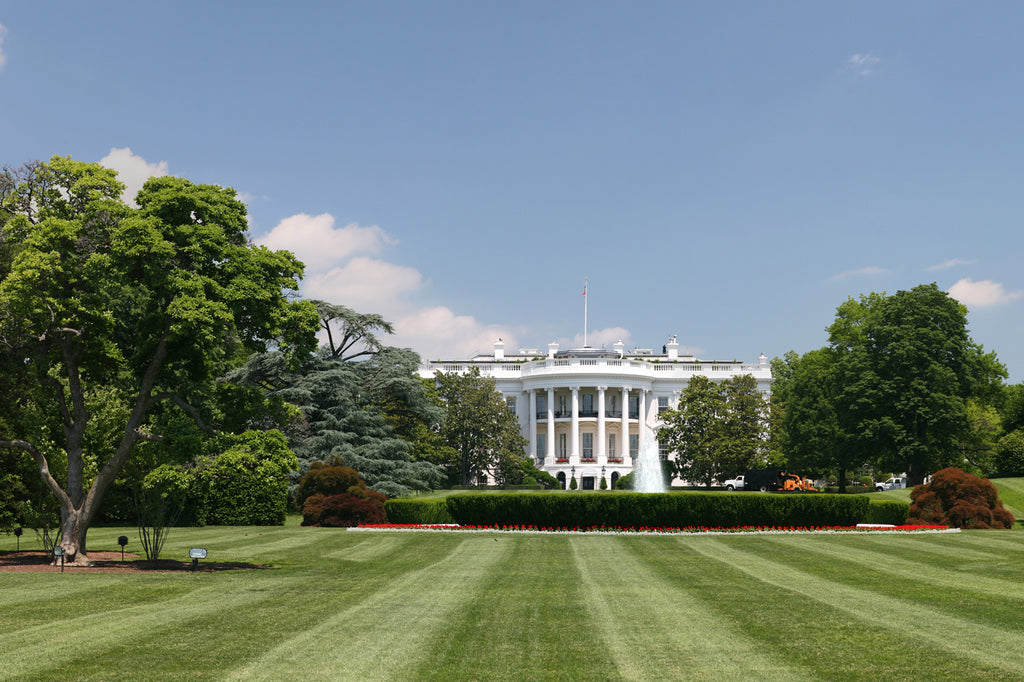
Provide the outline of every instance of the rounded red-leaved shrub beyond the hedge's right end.
[[941,523],[957,528],[1012,528],[1014,515],[1004,508],[991,481],[949,467],[910,493],[907,523]]

